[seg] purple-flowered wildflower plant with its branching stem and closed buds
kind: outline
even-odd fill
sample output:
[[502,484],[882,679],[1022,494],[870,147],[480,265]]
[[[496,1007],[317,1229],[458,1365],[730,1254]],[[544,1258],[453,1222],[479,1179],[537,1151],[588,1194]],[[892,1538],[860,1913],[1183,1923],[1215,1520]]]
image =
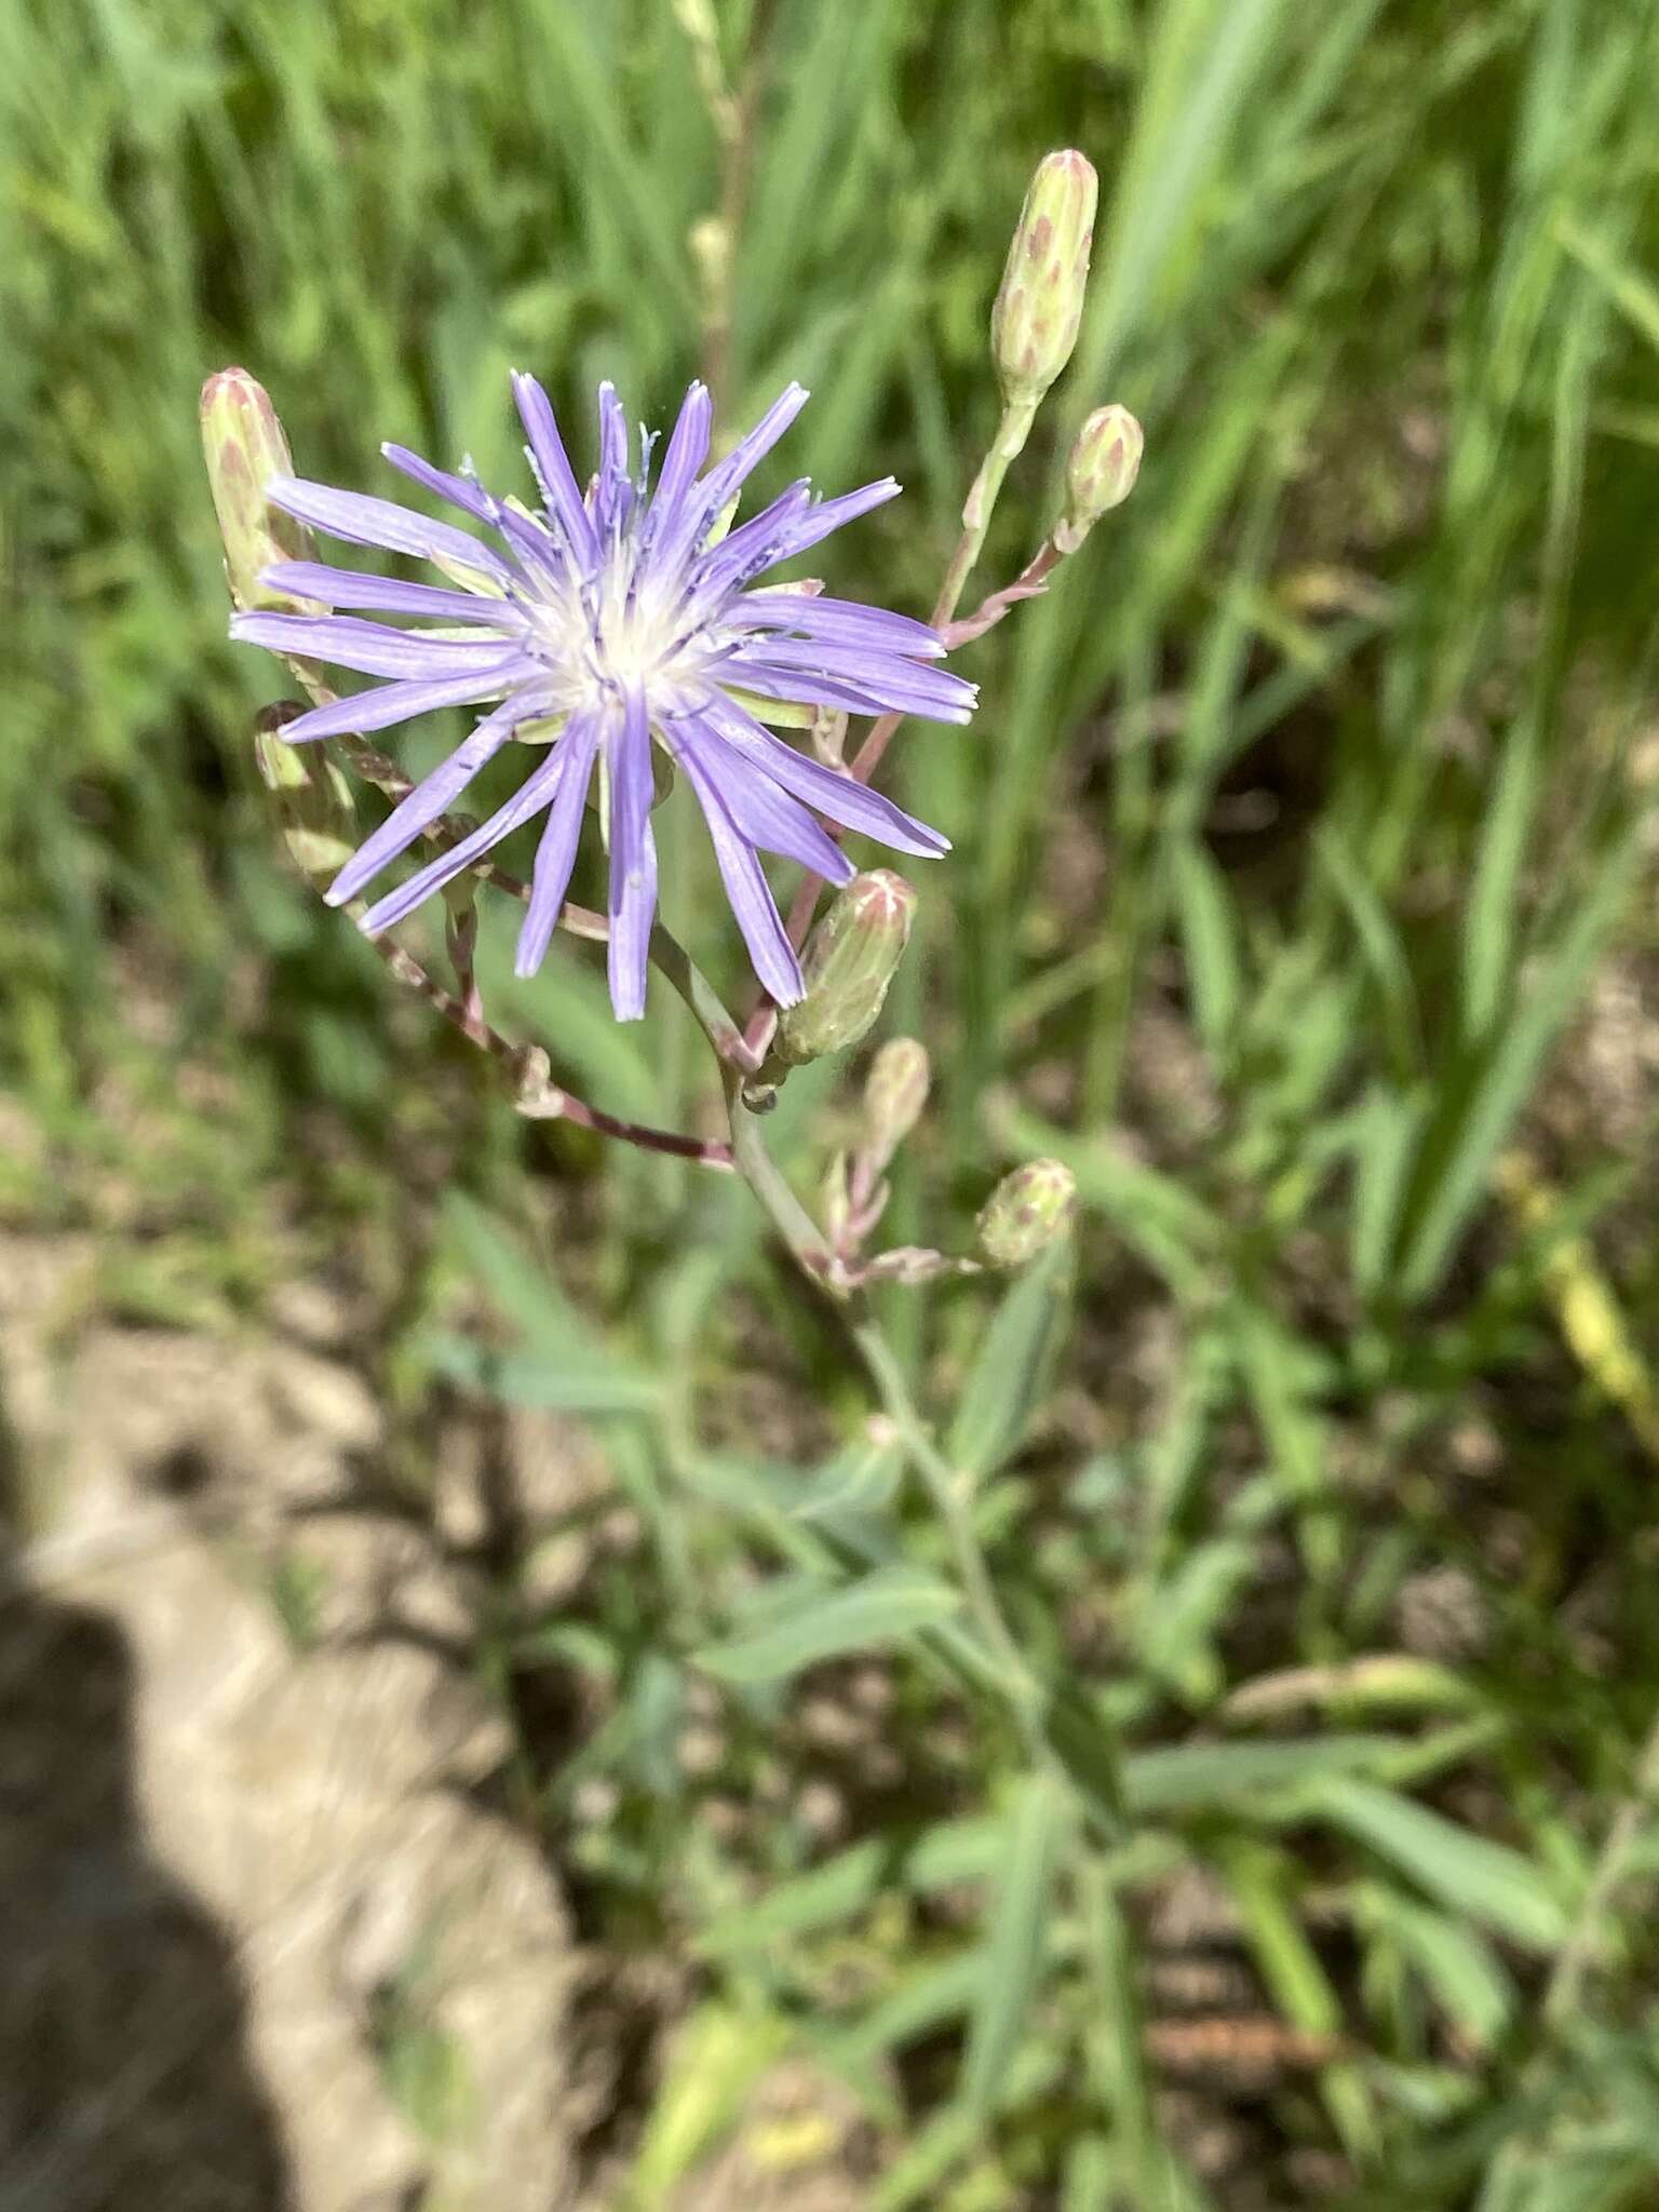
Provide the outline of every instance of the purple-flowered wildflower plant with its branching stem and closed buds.
[[[880,480],[818,498],[801,480],[743,513],[748,480],[805,405],[799,385],[721,458],[710,458],[717,425],[706,385],[692,383],[661,447],[630,431],[622,398],[602,385],[584,480],[542,387],[513,376],[533,502],[487,489],[471,467],[449,471],[383,447],[418,493],[467,526],[299,476],[268,394],[243,369],[210,378],[201,411],[232,637],[279,655],[305,695],[270,708],[254,739],[290,860],[358,922],[396,980],[487,1055],[522,1115],[575,1121],[748,1183],[807,1294],[841,1312],[880,1402],[880,1451],[891,1440],[920,1478],[951,1579],[905,1568],[863,1520],[827,1540],[818,1564],[854,1599],[845,1621],[865,1621],[876,1641],[920,1639],[1024,1743],[1033,1796],[1022,1820],[1040,1823],[1044,1851],[1066,1825],[1119,1836],[1117,1747],[1102,1708],[1040,1674],[1004,1619],[971,1493],[987,1438],[1018,1429],[1053,1340],[1071,1175],[1055,1161],[1018,1168],[984,1199],[973,1250],[880,1250],[889,1168],[927,1106],[922,1046],[894,1037],[874,1055],[856,1133],[832,1157],[816,1206],[774,1161],[768,1115],[796,1068],[865,1040],[918,900],[951,898],[947,841],[876,787],[896,734],[907,719],[971,721],[975,690],[945,666],[949,655],[1044,593],[1135,484],[1139,427],[1124,407],[1102,407],[1077,436],[1062,511],[1033,557],[960,613],[1006,471],[1077,336],[1093,212],[1088,161],[1051,155],[1026,195],[991,314],[1002,414],[927,622],[830,597],[812,577],[776,577],[898,493]],[[312,533],[420,562],[427,573],[327,564]],[[338,695],[325,666],[378,686]],[[429,774],[405,774],[378,748],[383,732],[456,706],[476,710],[473,728]],[[858,719],[869,728],[854,745]],[[473,781],[502,757],[520,761],[513,792],[482,823],[458,816]],[[699,922],[699,938],[681,945],[657,911],[653,810],[672,776],[686,779],[701,810],[754,971],[757,998],[741,1018],[703,973],[717,920]],[[361,785],[392,801],[372,827],[358,816]],[[500,847],[531,823],[540,825],[535,858],[529,878],[518,878]],[[606,852],[604,911],[568,898],[584,836]],[[854,856],[845,841],[878,852]],[[763,856],[796,869],[787,916]],[[885,865],[889,856],[936,865],[911,885]],[[392,880],[400,867],[407,874]],[[825,891],[834,894],[827,907]],[[398,936],[438,898],[449,980]],[[555,931],[604,949],[617,1020],[646,1015],[655,969],[708,1040],[726,1133],[628,1121],[564,1084],[557,1037],[495,1029],[473,962],[480,898],[522,905],[520,975],[542,964]],[[958,1407],[942,1447],[914,1402],[874,1292],[987,1270],[1020,1276],[993,1325],[1006,1358],[993,1360],[995,1402]],[[825,1648],[847,1641],[856,1637]],[[739,1677],[743,1663],[710,1659],[712,1672],[726,1666]],[[1033,1838],[1015,1827],[1024,1849]],[[984,2070],[969,2053],[975,2064]]]

